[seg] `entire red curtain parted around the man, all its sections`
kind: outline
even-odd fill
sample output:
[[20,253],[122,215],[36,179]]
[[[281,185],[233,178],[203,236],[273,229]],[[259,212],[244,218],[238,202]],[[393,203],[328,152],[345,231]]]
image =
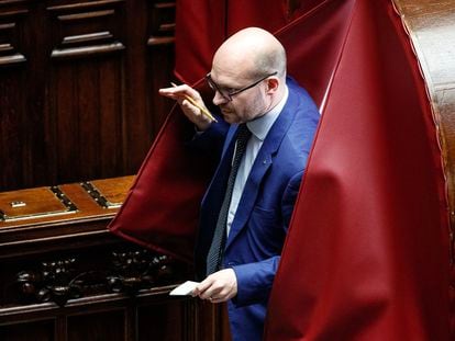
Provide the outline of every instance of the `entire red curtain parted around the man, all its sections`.
[[[448,220],[430,102],[390,0],[178,0],[176,75],[195,83],[231,33],[276,31],[323,112],[266,340],[448,340]],[[208,100],[210,101],[210,100]],[[212,169],[174,111],[110,229],[191,261]]]

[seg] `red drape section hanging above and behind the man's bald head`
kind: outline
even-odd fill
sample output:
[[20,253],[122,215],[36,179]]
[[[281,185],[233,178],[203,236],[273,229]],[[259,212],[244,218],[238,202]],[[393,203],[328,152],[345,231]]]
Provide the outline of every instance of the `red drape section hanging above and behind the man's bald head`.
[[322,0],[177,0],[176,75],[193,84],[210,71],[213,53],[247,26],[275,32]]

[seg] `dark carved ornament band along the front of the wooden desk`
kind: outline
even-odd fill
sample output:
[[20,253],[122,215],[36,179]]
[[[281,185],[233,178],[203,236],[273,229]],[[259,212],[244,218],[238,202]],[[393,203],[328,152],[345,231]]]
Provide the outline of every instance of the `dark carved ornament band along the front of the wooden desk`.
[[175,282],[181,266],[167,255],[145,249],[112,251],[106,269],[85,269],[78,258],[43,261],[36,270],[16,274],[15,284],[24,303],[54,302],[108,293],[136,294],[140,289]]

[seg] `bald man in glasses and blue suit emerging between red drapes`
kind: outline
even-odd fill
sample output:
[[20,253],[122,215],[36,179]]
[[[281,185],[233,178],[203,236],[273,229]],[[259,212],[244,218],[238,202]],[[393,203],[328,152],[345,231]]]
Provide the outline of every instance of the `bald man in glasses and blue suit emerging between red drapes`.
[[[218,122],[186,99],[206,107],[195,89],[184,84],[159,90],[180,104],[200,132],[192,144],[220,155],[201,203],[195,254],[202,282],[193,296],[229,302],[233,340],[262,340],[268,296],[320,115],[307,91],[287,77],[282,45],[258,27],[226,39],[206,79],[220,109]],[[236,138],[245,124],[251,137],[226,198]],[[224,238],[213,269],[220,228]]]

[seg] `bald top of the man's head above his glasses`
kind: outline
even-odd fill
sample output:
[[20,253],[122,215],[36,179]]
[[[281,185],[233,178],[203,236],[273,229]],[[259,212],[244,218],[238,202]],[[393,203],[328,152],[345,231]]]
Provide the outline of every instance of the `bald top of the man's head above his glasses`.
[[247,78],[259,78],[278,72],[286,77],[286,52],[281,43],[269,32],[248,27],[228,38],[213,57],[213,67],[224,71],[243,69]]

